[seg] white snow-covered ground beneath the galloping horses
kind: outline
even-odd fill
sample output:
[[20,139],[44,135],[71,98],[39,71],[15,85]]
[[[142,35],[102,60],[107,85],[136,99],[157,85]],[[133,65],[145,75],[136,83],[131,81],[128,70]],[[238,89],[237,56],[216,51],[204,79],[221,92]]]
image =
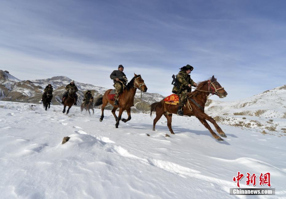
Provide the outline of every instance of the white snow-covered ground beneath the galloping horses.
[[[285,136],[219,124],[228,138],[218,142],[197,118],[174,115],[165,137],[163,117],[153,132],[148,114],[115,128],[110,111],[102,122],[99,109],[61,111],[0,101],[1,198],[286,198]],[[255,188],[268,188],[259,175],[270,172],[276,195],[230,196],[238,171],[255,173]]]

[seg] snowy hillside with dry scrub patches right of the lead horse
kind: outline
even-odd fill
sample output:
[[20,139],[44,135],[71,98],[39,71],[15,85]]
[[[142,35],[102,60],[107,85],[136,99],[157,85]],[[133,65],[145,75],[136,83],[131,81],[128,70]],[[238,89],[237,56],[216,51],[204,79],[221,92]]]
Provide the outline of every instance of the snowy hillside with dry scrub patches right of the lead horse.
[[281,136],[286,132],[286,85],[242,100],[211,101],[205,112],[223,124]]

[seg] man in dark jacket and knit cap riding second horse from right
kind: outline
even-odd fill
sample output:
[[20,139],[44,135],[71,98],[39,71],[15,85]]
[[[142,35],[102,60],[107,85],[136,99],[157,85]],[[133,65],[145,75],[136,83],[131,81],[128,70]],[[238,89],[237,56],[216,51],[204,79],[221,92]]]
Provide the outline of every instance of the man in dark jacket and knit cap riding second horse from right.
[[119,65],[118,70],[115,70],[110,74],[110,79],[113,79],[113,86],[115,87],[114,105],[118,105],[118,97],[123,90],[123,86],[126,86],[128,81],[126,75],[123,72],[123,69],[124,67],[122,65]]

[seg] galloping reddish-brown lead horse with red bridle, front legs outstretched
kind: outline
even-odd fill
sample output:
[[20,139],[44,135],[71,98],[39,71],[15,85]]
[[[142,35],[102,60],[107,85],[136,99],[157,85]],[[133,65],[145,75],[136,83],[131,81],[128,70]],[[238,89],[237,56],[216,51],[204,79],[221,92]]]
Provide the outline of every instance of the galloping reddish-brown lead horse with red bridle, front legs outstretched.
[[[205,103],[209,94],[216,94],[220,98],[224,98],[227,95],[227,92],[224,90],[223,87],[220,86],[214,76],[209,80],[199,82],[197,89],[191,93],[188,93],[188,100],[185,107],[183,107],[183,113],[184,115],[187,115],[189,117],[193,115],[196,116],[199,121],[204,124],[205,128],[209,129],[209,132],[216,140],[223,141],[220,136],[226,137],[225,133],[216,124],[216,121],[204,112]],[[166,104],[164,100],[153,103],[151,105],[150,113],[150,115],[152,116],[152,111],[156,111],[156,118],[153,121],[153,131],[155,131],[155,125],[157,121],[162,117],[162,115],[164,115],[167,118],[167,126],[170,132],[174,134],[171,124],[172,113],[176,114],[177,109],[178,105]],[[215,126],[216,131],[220,134],[220,136],[216,135],[216,133],[213,132],[212,128],[209,126],[206,120],[210,121]]]

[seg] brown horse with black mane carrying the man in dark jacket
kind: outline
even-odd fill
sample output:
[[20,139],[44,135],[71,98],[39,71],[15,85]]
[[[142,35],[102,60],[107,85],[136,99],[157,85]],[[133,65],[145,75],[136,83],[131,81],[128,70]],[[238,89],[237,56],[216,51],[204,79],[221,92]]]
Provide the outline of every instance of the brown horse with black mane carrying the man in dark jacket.
[[[119,125],[119,121],[121,120],[121,115],[123,111],[127,111],[128,114],[128,118],[124,119],[122,118],[123,122],[127,122],[129,120],[131,120],[131,115],[130,115],[130,111],[131,111],[131,106],[133,106],[134,103],[134,96],[136,93],[136,90],[139,89],[143,92],[147,91],[147,87],[144,83],[144,80],[141,78],[141,75],[136,75],[134,73],[134,77],[131,79],[131,81],[127,84],[126,88],[123,90],[123,92],[121,93],[120,97],[119,97],[119,101],[118,101],[118,105],[114,105],[114,101],[110,100],[108,98],[108,94],[112,89],[109,89],[107,91],[105,91],[104,95],[102,98],[98,98],[95,101],[95,105],[101,105],[101,117],[99,119],[99,121],[103,120],[103,111],[105,106],[108,104],[108,102],[113,105],[113,109],[112,109],[112,114],[115,118],[116,124],[115,127],[118,128]],[[119,108],[119,114],[118,117],[115,114],[116,109]]]

